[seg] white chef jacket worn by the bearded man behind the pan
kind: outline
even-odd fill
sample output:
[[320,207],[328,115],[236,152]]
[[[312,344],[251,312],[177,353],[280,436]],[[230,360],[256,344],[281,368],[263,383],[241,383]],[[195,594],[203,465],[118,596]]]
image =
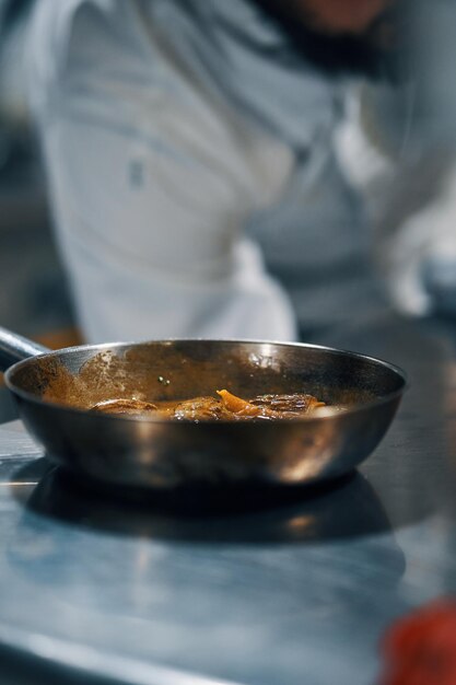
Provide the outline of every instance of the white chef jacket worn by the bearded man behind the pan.
[[293,339],[372,306],[339,85],[248,0],[40,0],[28,44],[90,341]]

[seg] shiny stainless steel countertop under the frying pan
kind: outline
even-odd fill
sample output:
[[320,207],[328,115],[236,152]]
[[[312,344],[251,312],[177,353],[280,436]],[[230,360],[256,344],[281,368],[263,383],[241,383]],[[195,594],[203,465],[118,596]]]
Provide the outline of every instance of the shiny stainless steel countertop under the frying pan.
[[85,490],[0,427],[0,683],[373,684],[390,622],[456,591],[454,339],[388,320],[321,340],[409,372],[388,436],[329,488],[215,514]]

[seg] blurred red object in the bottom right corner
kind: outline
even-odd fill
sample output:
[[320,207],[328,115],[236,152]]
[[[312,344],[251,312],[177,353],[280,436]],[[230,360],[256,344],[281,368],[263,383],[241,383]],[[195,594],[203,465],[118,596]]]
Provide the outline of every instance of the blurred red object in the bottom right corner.
[[456,685],[456,600],[439,600],[397,620],[382,652],[378,685]]

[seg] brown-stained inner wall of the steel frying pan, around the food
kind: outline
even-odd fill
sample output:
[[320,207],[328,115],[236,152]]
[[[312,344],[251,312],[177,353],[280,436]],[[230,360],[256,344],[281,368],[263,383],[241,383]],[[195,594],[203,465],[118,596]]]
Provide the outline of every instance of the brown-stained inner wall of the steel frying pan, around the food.
[[352,406],[401,391],[405,379],[384,362],[327,348],[183,340],[62,350],[17,364],[9,383],[45,402],[89,409],[107,399],[188,399],[221,388],[244,398],[309,393]]

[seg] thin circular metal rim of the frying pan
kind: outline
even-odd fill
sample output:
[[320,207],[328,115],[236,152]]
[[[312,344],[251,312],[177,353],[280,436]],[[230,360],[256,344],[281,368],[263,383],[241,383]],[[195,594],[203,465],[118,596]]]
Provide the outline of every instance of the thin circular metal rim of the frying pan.
[[[332,414],[332,415],[328,415],[328,416],[313,416],[313,415],[308,415],[308,416],[303,416],[300,418],[293,418],[293,419],[277,419],[277,420],[268,420],[266,421],[262,418],[252,418],[248,421],[227,421],[227,420],[222,420],[222,419],[206,419],[203,421],[196,421],[194,419],[179,419],[179,420],[169,420],[169,419],[154,419],[152,417],[142,417],[142,416],[131,416],[131,415],[109,415],[109,414],[103,414],[103,419],[110,419],[114,421],[127,421],[127,422],[132,422],[132,423],[138,423],[138,422],[142,422],[142,423],[153,423],[156,426],[169,426],[169,425],[174,425],[174,426],[268,426],[268,425],[273,425],[273,426],[278,426],[278,425],[284,425],[284,426],[290,426],[290,425],[300,425],[301,422],[305,422],[307,423],[308,421],[328,421],[328,420],[334,420],[336,417],[340,417],[340,416],[348,416],[348,415],[353,415],[353,414],[358,414],[361,411],[365,411],[369,410],[371,408],[384,405],[384,404],[388,404],[389,402],[393,402],[394,399],[401,397],[410,387],[410,381],[409,381],[409,376],[408,373],[401,369],[399,365],[394,364],[389,361],[386,361],[385,359],[378,358],[378,357],[373,357],[370,355],[363,355],[362,352],[355,352],[353,350],[347,350],[347,349],[342,349],[342,348],[336,348],[336,347],[330,347],[330,346],[326,346],[326,345],[318,345],[318,344],[314,344],[314,342],[293,342],[293,341],[287,341],[287,340],[267,340],[267,339],[255,339],[255,338],[200,338],[200,337],[196,337],[196,338],[163,338],[163,339],[156,339],[156,340],[136,340],[136,341],[116,341],[116,342],[102,342],[100,345],[95,344],[95,345],[77,345],[77,346],[71,346],[71,347],[66,347],[66,348],[61,348],[58,350],[49,350],[48,352],[44,352],[42,355],[36,355],[35,357],[28,357],[26,359],[23,359],[21,361],[15,362],[14,364],[12,364],[9,369],[7,369],[7,371],[4,372],[4,383],[7,385],[7,387],[9,388],[9,391],[14,395],[14,396],[19,396],[21,399],[24,399],[28,403],[33,403],[35,405],[38,406],[45,406],[45,407],[49,407],[51,409],[59,409],[59,410],[63,410],[66,413],[70,413],[70,414],[74,414],[78,416],[87,416],[90,415],[90,410],[87,409],[81,409],[78,407],[72,407],[71,405],[65,405],[65,404],[59,404],[59,403],[54,403],[54,402],[47,402],[47,400],[43,400],[40,397],[38,397],[37,395],[35,395],[34,393],[30,393],[27,391],[24,391],[20,387],[17,387],[13,381],[11,380],[11,376],[19,371],[22,367],[25,367],[30,363],[33,363],[35,360],[38,359],[44,359],[44,358],[52,358],[52,357],[59,357],[63,353],[71,353],[71,352],[84,352],[84,351],[89,351],[89,350],[94,350],[95,352],[102,352],[104,350],[115,350],[116,348],[132,348],[132,347],[140,347],[140,346],[148,346],[148,345],[156,345],[156,346],[171,346],[173,344],[190,344],[190,342],[204,342],[208,345],[233,345],[233,344],[246,344],[246,345],[273,345],[276,347],[291,347],[291,348],[295,348],[295,349],[314,349],[316,351],[324,351],[324,352],[328,352],[330,355],[337,355],[337,356],[342,356],[342,357],[348,357],[348,358],[352,358],[352,359],[359,359],[359,360],[363,360],[363,361],[367,361],[373,363],[374,365],[377,367],[383,367],[384,369],[387,369],[388,371],[390,371],[391,373],[394,373],[396,376],[399,378],[399,380],[401,381],[401,386],[398,387],[395,391],[391,391],[390,393],[386,393],[385,395],[382,395],[379,397],[376,397],[375,399],[373,399],[372,402],[365,402],[365,403],[360,403],[360,404],[355,404],[352,405],[348,408],[346,408],[343,411],[341,411],[340,414]],[[93,413],[93,416],[96,417],[97,415],[95,413]]]

